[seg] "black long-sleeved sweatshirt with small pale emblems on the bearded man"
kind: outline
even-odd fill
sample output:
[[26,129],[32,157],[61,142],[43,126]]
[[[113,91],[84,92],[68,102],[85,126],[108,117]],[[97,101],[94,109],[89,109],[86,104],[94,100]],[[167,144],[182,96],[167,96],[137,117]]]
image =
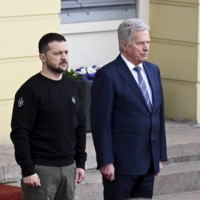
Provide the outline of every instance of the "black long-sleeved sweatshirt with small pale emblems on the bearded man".
[[15,95],[11,127],[23,177],[35,173],[34,165],[62,167],[75,160],[84,169],[85,115],[75,80],[31,77]]

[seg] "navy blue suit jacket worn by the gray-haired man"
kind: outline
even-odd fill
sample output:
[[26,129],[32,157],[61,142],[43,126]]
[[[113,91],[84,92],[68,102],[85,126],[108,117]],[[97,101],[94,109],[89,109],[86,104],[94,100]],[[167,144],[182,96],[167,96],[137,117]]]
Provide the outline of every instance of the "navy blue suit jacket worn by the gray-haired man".
[[113,163],[117,174],[142,175],[151,160],[155,173],[159,161],[167,160],[160,71],[150,62],[143,66],[152,90],[152,113],[121,55],[94,78],[90,117],[98,168]]

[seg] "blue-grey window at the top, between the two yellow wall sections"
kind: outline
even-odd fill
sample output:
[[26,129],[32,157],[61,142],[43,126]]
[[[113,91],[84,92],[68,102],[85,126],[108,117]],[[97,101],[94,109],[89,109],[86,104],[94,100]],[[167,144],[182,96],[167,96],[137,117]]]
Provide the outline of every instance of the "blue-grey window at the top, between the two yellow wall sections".
[[136,17],[136,0],[61,0],[61,24]]

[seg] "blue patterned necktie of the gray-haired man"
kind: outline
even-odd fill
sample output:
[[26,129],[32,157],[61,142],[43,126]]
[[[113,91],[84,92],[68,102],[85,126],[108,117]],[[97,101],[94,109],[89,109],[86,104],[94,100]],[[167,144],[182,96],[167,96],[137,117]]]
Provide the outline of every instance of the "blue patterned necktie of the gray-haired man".
[[142,74],[141,74],[142,68],[137,66],[137,67],[134,67],[133,69],[137,72],[138,83],[139,83],[140,89],[142,91],[142,94],[143,94],[143,96],[144,96],[144,98],[147,102],[147,105],[149,107],[149,110],[151,112],[152,111],[152,105],[151,105],[151,101],[150,101],[150,98],[149,98],[149,93],[147,91],[147,86],[146,86],[145,81],[144,81]]

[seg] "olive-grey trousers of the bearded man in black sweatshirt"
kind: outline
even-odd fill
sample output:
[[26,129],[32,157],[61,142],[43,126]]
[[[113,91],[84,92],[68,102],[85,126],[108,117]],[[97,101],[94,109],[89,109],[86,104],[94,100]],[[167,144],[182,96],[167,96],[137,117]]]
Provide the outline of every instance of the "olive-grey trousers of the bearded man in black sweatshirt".
[[75,164],[66,167],[35,166],[41,186],[30,187],[21,181],[23,200],[74,200]]

